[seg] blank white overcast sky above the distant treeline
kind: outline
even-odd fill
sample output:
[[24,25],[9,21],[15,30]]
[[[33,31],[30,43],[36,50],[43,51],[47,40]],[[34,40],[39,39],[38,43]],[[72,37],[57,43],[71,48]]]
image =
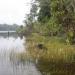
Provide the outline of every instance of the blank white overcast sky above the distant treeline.
[[0,0],[0,24],[23,24],[31,0]]

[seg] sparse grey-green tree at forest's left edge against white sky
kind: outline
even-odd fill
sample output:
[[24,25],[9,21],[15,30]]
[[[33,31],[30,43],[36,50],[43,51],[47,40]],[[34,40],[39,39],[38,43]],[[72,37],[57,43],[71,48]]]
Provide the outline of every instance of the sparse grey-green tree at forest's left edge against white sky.
[[25,24],[26,24],[26,32],[32,33],[34,31],[34,23],[37,17],[37,4],[35,1],[32,2],[30,13],[27,15]]

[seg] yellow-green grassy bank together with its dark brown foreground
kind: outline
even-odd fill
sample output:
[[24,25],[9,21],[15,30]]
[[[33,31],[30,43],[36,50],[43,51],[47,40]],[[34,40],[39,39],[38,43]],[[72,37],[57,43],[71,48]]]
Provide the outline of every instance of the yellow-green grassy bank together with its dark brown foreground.
[[75,45],[66,44],[62,37],[38,34],[27,37],[26,44],[43,75],[75,75]]

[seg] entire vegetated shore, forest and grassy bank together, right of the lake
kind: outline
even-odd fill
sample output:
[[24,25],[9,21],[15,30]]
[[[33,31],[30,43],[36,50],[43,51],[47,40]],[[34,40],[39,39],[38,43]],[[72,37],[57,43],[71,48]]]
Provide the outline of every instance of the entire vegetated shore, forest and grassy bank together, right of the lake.
[[75,75],[75,1],[35,0],[25,20],[27,54],[43,75]]

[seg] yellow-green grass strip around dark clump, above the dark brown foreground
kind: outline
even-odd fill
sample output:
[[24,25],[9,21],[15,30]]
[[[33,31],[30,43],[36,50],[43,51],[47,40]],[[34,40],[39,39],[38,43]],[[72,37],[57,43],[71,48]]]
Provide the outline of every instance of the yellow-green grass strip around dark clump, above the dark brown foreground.
[[[37,48],[38,44],[43,44],[45,49]],[[51,61],[75,61],[75,47],[74,45],[67,45],[62,42],[59,37],[44,37],[37,34],[27,38],[27,48],[34,57],[39,55],[40,58]]]

